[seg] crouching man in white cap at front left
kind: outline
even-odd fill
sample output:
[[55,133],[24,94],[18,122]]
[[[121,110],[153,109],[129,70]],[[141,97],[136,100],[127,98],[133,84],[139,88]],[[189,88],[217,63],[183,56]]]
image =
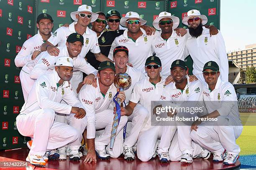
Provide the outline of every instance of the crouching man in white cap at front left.
[[[55,70],[36,80],[28,100],[16,117],[17,128],[23,136],[33,138],[27,161],[34,165],[46,165],[46,150],[70,145],[70,160],[79,160],[78,149],[84,129],[85,110],[74,95],[69,80],[73,63],[70,57],[59,57]],[[61,104],[64,99],[67,104]],[[54,122],[55,112],[69,115],[69,125]]]

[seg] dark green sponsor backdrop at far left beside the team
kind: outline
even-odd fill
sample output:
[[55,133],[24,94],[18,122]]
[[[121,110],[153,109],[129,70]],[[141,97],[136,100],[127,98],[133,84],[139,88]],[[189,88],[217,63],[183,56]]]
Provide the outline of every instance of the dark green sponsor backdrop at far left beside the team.
[[28,138],[18,133],[16,117],[24,103],[20,69],[14,58],[35,32],[33,0],[0,0],[0,150],[23,148]]

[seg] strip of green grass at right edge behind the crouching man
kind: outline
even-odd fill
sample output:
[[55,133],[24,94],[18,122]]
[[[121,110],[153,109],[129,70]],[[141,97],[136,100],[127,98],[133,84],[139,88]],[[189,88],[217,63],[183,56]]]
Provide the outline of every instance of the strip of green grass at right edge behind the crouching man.
[[[243,122],[243,132],[236,140],[236,143],[241,148],[240,155],[255,155],[256,154],[256,114],[241,113]],[[246,123],[245,123],[246,122]],[[250,125],[250,126],[248,126]]]

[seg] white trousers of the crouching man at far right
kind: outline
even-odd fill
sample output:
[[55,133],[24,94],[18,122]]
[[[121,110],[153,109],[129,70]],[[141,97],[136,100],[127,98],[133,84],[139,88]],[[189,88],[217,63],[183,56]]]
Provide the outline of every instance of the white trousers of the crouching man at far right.
[[218,116],[218,121],[202,122],[197,131],[192,130],[190,137],[203,148],[213,153],[239,154],[236,139],[241,135],[243,126],[230,116]]

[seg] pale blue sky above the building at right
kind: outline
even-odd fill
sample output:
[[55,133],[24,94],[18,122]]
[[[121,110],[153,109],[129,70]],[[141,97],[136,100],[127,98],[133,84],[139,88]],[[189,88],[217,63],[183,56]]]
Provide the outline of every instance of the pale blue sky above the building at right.
[[256,43],[256,0],[220,0],[220,31],[227,52]]

